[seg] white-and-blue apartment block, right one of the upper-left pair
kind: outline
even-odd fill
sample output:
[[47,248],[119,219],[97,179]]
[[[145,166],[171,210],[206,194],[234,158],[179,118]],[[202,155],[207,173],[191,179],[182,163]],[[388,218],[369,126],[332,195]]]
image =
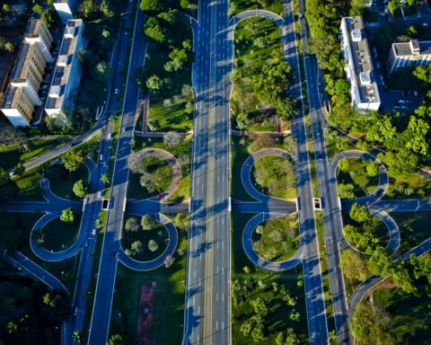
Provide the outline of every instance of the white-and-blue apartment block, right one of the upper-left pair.
[[48,116],[61,116],[65,111],[74,110],[82,75],[77,53],[85,46],[83,32],[84,22],[81,19],[67,21],[45,105]]

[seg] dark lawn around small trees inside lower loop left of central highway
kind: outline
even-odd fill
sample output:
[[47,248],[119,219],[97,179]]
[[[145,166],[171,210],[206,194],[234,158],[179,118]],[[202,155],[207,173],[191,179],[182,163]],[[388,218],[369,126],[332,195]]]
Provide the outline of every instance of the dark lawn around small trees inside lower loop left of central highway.
[[[124,215],[124,224],[130,217],[135,217],[137,221],[140,223],[140,217],[136,217],[133,215]],[[148,242],[150,240],[154,240],[158,244],[158,249],[154,252],[151,252],[148,249]],[[168,240],[168,233],[164,226],[154,221],[154,227],[150,230],[143,230],[139,228],[138,231],[128,231],[123,226],[123,231],[121,233],[121,246],[126,251],[130,249],[131,244],[140,241],[143,244],[142,252],[136,252],[135,255],[131,255],[131,257],[137,261],[152,261],[155,258],[159,257],[164,250],[166,249],[166,241]]]

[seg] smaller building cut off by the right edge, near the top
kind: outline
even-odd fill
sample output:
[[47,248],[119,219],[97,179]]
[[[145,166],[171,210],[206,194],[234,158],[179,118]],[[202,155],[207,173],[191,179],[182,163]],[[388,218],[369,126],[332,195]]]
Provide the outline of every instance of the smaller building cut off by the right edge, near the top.
[[400,67],[427,66],[431,63],[431,40],[392,43],[388,57],[388,72]]

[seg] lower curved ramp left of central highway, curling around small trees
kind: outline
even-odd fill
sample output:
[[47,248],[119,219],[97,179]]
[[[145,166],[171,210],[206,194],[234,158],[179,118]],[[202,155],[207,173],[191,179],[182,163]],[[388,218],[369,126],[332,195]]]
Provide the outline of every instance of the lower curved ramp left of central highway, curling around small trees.
[[178,244],[178,233],[175,226],[173,226],[171,219],[169,219],[168,217],[164,216],[161,213],[155,213],[152,216],[157,222],[162,224],[166,229],[166,231],[168,232],[168,237],[169,237],[168,245],[166,246],[166,249],[164,250],[164,252],[159,257],[155,258],[152,261],[137,261],[129,257],[121,247],[119,250],[119,261],[130,270],[138,270],[138,271],[155,270],[163,266],[163,263],[166,257],[169,255],[173,256],[175,252],[175,249]]

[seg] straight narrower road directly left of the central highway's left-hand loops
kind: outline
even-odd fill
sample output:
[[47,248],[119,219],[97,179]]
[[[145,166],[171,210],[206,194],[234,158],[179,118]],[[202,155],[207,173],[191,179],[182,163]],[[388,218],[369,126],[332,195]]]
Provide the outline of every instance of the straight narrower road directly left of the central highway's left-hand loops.
[[[135,127],[135,112],[138,86],[133,74],[138,67],[144,66],[145,40],[141,28],[145,22],[144,13],[136,11],[134,36],[130,52],[126,92],[117,146],[114,172],[112,176],[110,208],[108,221],[101,249],[101,263],[92,308],[92,321],[88,335],[88,344],[106,344],[110,328],[110,313],[114,296],[115,276],[117,271],[120,236],[123,213],[126,208],[128,188],[128,160],[131,153],[130,141]],[[115,109],[115,107],[113,107]]]

